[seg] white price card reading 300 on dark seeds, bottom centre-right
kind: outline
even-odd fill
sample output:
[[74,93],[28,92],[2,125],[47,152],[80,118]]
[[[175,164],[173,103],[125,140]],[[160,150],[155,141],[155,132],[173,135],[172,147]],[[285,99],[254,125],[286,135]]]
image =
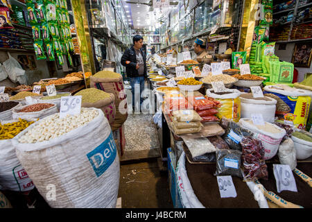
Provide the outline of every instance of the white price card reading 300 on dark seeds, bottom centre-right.
[[232,176],[217,176],[217,181],[221,198],[237,196]]

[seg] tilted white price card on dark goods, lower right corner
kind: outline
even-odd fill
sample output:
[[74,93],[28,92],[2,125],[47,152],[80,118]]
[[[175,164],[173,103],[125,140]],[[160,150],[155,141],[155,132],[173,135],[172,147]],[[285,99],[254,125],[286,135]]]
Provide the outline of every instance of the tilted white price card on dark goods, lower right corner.
[[283,190],[297,192],[297,185],[291,167],[286,164],[273,164],[273,173],[276,180],[277,192]]

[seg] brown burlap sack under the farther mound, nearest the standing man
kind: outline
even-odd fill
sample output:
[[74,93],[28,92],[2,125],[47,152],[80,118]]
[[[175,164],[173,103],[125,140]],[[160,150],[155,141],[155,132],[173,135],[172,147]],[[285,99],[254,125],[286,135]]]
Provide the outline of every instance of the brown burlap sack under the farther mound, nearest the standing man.
[[119,129],[128,118],[127,98],[123,86],[123,77],[121,75],[119,78],[97,78],[90,76],[90,87],[114,94],[116,117],[112,123],[112,130]]

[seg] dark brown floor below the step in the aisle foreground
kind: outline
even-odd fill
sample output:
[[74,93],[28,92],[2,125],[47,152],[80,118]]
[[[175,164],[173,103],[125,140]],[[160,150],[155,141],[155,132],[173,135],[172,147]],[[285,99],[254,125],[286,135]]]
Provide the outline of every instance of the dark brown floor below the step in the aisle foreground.
[[157,160],[120,166],[119,194],[122,208],[172,208],[168,172]]

